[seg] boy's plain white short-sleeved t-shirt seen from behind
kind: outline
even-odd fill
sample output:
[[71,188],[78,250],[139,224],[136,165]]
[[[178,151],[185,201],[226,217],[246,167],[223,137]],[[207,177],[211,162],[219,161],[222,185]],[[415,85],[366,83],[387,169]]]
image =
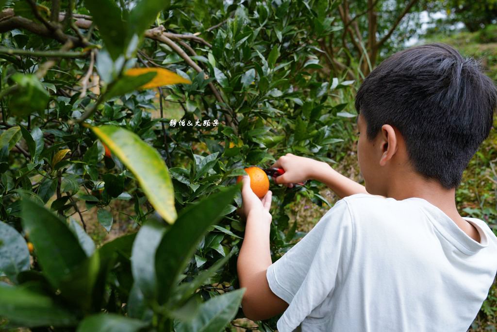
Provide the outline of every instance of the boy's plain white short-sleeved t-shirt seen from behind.
[[421,198],[338,201],[267,269],[289,303],[279,332],[467,331],[497,271],[497,237],[476,242]]

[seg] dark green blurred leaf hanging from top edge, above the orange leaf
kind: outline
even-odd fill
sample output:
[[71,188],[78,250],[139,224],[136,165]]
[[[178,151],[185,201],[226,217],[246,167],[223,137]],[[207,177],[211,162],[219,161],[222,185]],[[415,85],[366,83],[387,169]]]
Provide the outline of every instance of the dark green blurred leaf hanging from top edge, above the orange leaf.
[[122,11],[114,0],[85,0],[86,8],[93,16],[102,40],[116,60],[124,53],[129,42],[128,27],[122,18]]

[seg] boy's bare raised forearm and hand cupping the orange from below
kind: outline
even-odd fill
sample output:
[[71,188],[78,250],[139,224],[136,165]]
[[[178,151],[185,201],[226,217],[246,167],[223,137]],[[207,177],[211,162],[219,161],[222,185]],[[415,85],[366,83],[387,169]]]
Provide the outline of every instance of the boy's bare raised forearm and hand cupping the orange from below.
[[247,289],[242,309],[247,318],[257,321],[282,313],[288,304],[271,291],[266,279],[266,270],[272,264],[269,249],[271,192],[260,201],[250,189],[248,176],[244,177],[243,185],[247,224],[237,270],[240,287]]

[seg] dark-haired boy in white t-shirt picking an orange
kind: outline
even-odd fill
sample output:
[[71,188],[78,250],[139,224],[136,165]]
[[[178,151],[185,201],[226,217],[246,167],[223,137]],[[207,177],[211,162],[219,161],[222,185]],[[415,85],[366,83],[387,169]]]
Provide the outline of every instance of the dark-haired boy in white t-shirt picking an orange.
[[307,179],[342,198],[275,263],[271,193],[243,180],[238,258],[246,316],[283,313],[278,331],[466,331],[497,271],[497,237],[461,217],[455,189],[488,136],[494,83],[476,61],[430,44],[391,56],[357,92],[365,187],[323,162],[287,154],[277,183]]

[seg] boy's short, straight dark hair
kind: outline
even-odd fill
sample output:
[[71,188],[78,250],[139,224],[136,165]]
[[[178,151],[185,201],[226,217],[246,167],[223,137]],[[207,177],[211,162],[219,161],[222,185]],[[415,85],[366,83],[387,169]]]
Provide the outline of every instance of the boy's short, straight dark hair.
[[368,140],[383,124],[395,126],[414,170],[451,189],[489,135],[496,100],[496,86],[476,60],[449,45],[428,44],[376,67],[357,92],[355,109],[366,120]]

